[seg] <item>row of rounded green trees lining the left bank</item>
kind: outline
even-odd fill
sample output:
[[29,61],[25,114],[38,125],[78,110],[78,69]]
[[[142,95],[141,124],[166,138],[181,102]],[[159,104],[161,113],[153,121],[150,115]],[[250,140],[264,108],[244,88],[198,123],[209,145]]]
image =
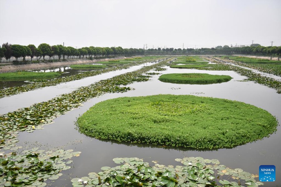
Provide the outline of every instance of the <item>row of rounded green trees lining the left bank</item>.
[[[36,46],[30,44],[28,46],[22,46],[18,44],[9,44],[3,43],[2,48],[0,47],[0,62],[3,57],[6,60],[10,60],[11,57],[15,57],[16,61],[18,58],[22,57],[23,61],[27,56],[36,57],[37,60],[40,60],[43,57],[45,60],[45,56],[49,56],[49,60],[51,57],[55,59],[55,56],[58,56],[60,60],[61,57],[65,59],[69,58],[87,58],[87,57],[109,57],[109,56],[133,56],[133,55],[144,55],[144,49],[123,49],[122,47],[82,47],[80,49],[76,49],[71,46],[62,46],[55,45],[50,46],[49,44],[42,43],[37,48]],[[10,60],[11,61],[11,60]]]

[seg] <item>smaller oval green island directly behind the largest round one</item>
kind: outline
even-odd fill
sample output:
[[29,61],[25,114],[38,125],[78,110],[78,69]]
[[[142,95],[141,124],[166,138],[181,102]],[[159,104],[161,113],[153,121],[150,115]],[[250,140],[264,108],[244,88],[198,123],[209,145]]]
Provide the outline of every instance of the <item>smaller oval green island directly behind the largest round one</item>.
[[206,73],[171,73],[163,74],[158,80],[176,84],[214,84],[233,79],[229,75],[210,75]]

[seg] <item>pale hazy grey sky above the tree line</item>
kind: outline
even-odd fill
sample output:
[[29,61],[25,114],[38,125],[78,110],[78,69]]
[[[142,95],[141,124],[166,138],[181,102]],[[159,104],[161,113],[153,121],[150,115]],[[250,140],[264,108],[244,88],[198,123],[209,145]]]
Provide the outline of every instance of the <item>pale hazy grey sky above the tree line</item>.
[[0,44],[281,46],[281,0],[0,0]]

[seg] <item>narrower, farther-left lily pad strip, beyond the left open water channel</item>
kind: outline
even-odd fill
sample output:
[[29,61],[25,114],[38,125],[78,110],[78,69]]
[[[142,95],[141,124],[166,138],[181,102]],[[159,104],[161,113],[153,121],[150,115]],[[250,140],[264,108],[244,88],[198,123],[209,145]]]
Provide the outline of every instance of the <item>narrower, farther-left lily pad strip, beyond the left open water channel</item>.
[[[27,85],[22,85],[22,86],[18,86],[18,87],[10,87],[10,88],[6,88],[6,89],[2,89],[2,90],[0,90],[0,98],[7,97],[7,96],[10,96],[10,95],[14,95],[14,94],[18,94],[18,93],[22,93],[22,92],[27,92],[27,91],[42,88],[42,87],[54,86],[54,85],[64,83],[64,82],[84,79],[86,77],[95,76],[95,75],[107,73],[107,72],[110,72],[110,71],[127,69],[127,68],[129,68],[133,65],[140,65],[140,64],[143,64],[143,63],[146,63],[146,62],[159,60],[161,58],[157,58],[157,59],[153,59],[153,60],[152,59],[142,60],[142,61],[138,61],[138,62],[132,62],[130,64],[126,64],[126,65],[123,65],[123,66],[117,66],[117,67],[114,67],[114,68],[108,68],[108,69],[96,70],[96,71],[87,71],[87,72],[82,72],[80,74],[71,75],[71,76],[68,76],[68,77],[62,77],[62,78],[57,78],[57,79],[52,79],[52,80],[35,82],[33,84],[27,84]],[[164,58],[162,57],[162,59],[164,59]]]

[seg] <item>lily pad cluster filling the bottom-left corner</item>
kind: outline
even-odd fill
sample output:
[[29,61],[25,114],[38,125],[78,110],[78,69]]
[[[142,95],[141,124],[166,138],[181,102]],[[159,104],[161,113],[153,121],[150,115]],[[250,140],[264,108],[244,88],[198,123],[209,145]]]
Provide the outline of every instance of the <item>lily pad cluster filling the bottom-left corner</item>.
[[0,157],[1,186],[46,186],[47,180],[56,180],[62,170],[68,170],[73,156],[81,152],[73,150],[44,151],[33,148],[22,151],[20,155],[12,153]]

